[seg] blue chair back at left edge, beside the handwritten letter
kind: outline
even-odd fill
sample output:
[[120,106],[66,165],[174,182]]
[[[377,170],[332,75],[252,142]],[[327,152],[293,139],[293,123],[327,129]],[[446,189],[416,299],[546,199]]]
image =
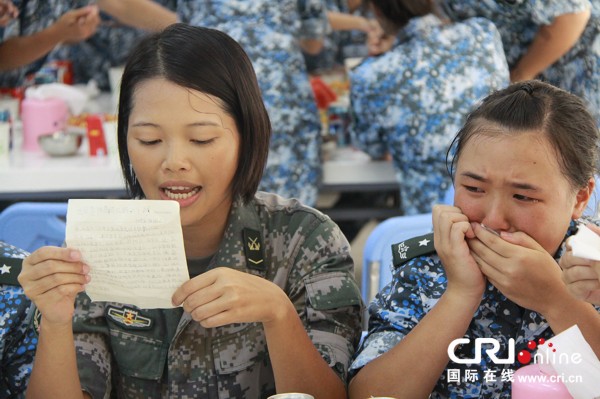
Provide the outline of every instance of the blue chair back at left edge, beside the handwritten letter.
[[0,240],[33,252],[65,240],[67,203],[17,202],[0,213]]

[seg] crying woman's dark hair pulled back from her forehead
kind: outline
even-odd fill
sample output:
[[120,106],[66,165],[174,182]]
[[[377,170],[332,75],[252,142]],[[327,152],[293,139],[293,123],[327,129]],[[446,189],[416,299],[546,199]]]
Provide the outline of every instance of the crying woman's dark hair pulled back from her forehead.
[[539,80],[514,83],[482,100],[448,149],[450,175],[454,178],[456,163],[472,137],[525,132],[539,132],[547,138],[573,189],[585,187],[596,175],[596,121],[579,97]]

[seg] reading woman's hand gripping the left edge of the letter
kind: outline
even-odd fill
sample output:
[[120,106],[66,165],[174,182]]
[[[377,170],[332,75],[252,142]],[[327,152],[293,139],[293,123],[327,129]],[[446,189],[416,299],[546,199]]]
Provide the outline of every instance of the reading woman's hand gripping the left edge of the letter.
[[42,247],[23,261],[19,283],[45,323],[71,323],[75,297],[90,281],[89,266],[73,249]]

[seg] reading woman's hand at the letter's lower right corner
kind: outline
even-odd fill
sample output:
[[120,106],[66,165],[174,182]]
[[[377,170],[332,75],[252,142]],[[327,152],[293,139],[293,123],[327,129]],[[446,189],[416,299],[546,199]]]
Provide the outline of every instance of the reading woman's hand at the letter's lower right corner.
[[279,286],[252,274],[227,267],[209,270],[184,283],[173,294],[173,304],[203,327],[231,323],[276,323],[295,309]]

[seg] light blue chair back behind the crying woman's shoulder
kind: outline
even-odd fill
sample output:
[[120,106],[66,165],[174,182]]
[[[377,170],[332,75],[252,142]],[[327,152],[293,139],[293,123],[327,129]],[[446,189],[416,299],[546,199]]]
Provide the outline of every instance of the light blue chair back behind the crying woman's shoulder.
[[432,231],[431,213],[396,216],[379,223],[363,250],[362,296],[365,303],[392,281],[392,245]]

